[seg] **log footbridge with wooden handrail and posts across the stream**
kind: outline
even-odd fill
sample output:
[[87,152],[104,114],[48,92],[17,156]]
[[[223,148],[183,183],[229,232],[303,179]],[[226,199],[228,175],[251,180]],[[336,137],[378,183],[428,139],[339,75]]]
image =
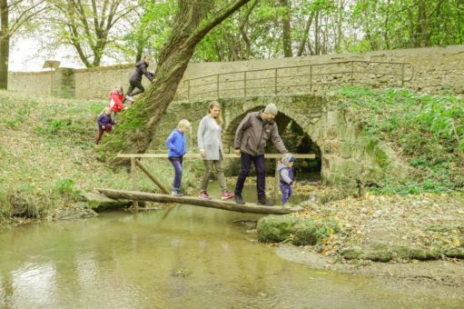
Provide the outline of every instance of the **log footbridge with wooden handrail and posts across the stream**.
[[[111,190],[111,189],[98,189],[98,191],[106,196],[119,199],[119,200],[133,200],[133,207],[138,209],[138,201],[150,201],[158,203],[176,203],[176,204],[193,204],[204,207],[212,207],[230,210],[241,213],[254,213],[254,214],[290,214],[301,210],[298,207],[283,208],[281,206],[260,206],[255,204],[235,204],[232,202],[224,202],[222,200],[209,200],[205,201],[193,196],[172,196],[169,195],[169,190],[161,184],[156,177],[150,173],[145,166],[140,162],[142,158],[167,158],[167,154],[118,154],[118,157],[130,158],[131,159],[131,178],[132,178],[132,191],[125,190]],[[314,154],[293,154],[296,159],[313,159]],[[183,156],[186,159],[202,159],[200,154],[185,154]],[[226,158],[240,158],[238,154],[223,154],[222,157]],[[265,158],[275,159],[276,162],[281,158],[281,154],[264,154]],[[277,164],[277,163],[276,163]],[[163,194],[150,194],[138,191],[138,180],[137,180],[137,167],[146,174],[154,184],[156,184]],[[274,181],[274,201],[277,200],[277,194],[279,191],[279,173],[276,169],[275,181]]]

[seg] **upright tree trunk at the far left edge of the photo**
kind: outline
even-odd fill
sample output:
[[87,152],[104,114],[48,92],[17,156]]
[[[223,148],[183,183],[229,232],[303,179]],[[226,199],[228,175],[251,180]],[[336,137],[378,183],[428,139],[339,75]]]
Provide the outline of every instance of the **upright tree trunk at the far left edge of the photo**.
[[10,55],[10,29],[8,4],[0,0],[0,89],[8,89],[8,57]]

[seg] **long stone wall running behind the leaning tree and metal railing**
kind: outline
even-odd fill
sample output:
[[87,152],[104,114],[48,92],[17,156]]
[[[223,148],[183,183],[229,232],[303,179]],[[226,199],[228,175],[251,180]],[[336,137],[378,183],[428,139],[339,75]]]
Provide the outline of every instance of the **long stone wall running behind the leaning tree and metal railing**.
[[[151,65],[149,70],[154,71],[155,66]],[[132,72],[133,65],[74,70],[74,95],[83,99],[104,98],[114,85],[127,88]],[[46,76],[47,73],[10,73],[8,88],[49,95],[50,79]],[[176,99],[200,99],[218,94],[220,97],[303,94],[331,85],[351,84],[403,85],[429,93],[446,90],[464,94],[464,45],[192,63],[185,71]],[[143,85],[148,85],[145,78]]]

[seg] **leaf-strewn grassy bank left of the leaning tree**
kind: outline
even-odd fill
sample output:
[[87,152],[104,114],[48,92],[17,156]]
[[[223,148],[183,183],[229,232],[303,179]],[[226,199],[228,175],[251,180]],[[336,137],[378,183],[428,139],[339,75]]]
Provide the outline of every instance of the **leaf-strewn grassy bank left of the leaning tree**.
[[[131,188],[125,167],[102,164],[94,152],[96,116],[106,104],[0,91],[0,224],[17,216],[51,219],[97,187]],[[143,164],[170,187],[171,164]],[[196,186],[191,168],[184,171],[183,185]],[[158,191],[143,173],[139,179],[141,190]]]

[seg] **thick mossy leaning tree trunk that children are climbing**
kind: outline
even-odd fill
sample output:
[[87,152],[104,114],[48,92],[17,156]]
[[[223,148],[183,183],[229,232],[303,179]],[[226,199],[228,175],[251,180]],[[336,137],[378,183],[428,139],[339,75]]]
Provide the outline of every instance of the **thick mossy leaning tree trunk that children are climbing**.
[[116,154],[143,154],[150,146],[156,127],[173,100],[177,86],[195,50],[195,46],[214,26],[232,15],[250,0],[237,0],[200,27],[210,1],[179,0],[179,11],[175,17],[173,32],[158,59],[152,84],[137,103],[125,112],[114,135],[98,146],[102,159],[112,164],[127,164],[127,159]]

